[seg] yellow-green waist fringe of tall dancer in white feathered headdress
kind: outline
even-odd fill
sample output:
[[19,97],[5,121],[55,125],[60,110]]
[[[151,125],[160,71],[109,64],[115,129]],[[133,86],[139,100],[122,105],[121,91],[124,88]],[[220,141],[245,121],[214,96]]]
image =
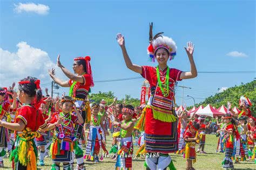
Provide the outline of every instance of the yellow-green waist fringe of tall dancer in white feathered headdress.
[[154,119],[157,119],[163,122],[176,122],[177,117],[173,115],[172,110],[161,109],[153,106],[151,107],[153,110]]

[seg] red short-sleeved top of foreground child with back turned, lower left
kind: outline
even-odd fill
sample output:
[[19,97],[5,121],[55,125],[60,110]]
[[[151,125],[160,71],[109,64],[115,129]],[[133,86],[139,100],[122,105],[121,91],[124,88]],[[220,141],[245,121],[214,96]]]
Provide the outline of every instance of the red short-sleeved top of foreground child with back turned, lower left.
[[33,132],[46,126],[41,110],[36,110],[31,105],[24,105],[18,109],[15,123],[19,122],[19,120],[24,122],[25,128],[30,128]]

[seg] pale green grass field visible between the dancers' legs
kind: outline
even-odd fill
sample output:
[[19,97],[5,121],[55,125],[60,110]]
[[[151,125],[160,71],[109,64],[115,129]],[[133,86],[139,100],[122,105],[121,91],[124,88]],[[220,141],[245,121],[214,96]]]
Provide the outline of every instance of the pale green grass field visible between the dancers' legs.
[[[207,154],[197,154],[197,162],[194,164],[194,168],[196,169],[222,169],[221,161],[224,158],[224,153],[216,153],[218,138],[215,135],[207,134],[206,136],[206,146],[205,152]],[[112,139],[111,137],[107,137],[107,150],[111,148]],[[198,148],[198,147],[197,147]],[[134,146],[134,152],[138,150],[137,146]],[[185,159],[183,159],[183,155],[170,154],[173,163],[177,169],[185,169]],[[235,169],[256,169],[256,164],[254,161],[240,161],[241,164],[234,164]],[[115,161],[110,158],[104,158],[99,163],[94,162],[85,162],[86,169],[114,169]],[[4,159],[4,168],[2,169],[11,169],[11,162],[9,159]],[[138,158],[132,160],[133,169],[145,169],[144,168],[144,159]],[[51,168],[51,159],[45,158],[45,166],[38,166],[41,169],[50,169]],[[0,168],[1,169],[1,168]]]

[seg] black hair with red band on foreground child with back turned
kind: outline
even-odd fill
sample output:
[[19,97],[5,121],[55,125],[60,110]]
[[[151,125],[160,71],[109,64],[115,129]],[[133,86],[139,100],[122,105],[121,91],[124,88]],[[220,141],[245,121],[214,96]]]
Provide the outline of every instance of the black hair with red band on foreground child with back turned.
[[28,76],[21,81],[30,81],[30,83],[19,84],[18,89],[24,91],[29,97],[36,96],[36,102],[39,103],[42,99],[42,90],[36,87],[35,81],[37,81],[37,78]]

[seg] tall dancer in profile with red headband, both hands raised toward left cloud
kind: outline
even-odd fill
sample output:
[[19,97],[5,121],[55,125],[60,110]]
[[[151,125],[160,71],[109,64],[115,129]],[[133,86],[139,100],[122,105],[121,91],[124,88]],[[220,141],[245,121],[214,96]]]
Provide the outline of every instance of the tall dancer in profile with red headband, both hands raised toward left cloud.
[[[55,76],[55,69],[49,70],[49,75],[59,86],[70,87],[69,96],[75,98],[75,105],[79,110],[82,110],[82,117],[84,123],[89,123],[91,121],[91,112],[89,107],[89,101],[86,100],[87,95],[90,91],[90,87],[93,87],[92,71],[90,65],[90,56],[77,57],[73,62],[73,71],[75,74],[71,73],[66,69],[62,63],[60,63],[60,55],[57,57],[57,66],[62,69],[63,73],[70,79],[69,81],[61,81]],[[75,126],[75,135],[78,139],[81,138],[83,134],[83,125]],[[79,144],[80,149],[82,146]],[[77,159],[77,169],[84,169],[84,159],[83,154],[75,155]],[[72,164],[74,160],[74,155],[72,154]]]

